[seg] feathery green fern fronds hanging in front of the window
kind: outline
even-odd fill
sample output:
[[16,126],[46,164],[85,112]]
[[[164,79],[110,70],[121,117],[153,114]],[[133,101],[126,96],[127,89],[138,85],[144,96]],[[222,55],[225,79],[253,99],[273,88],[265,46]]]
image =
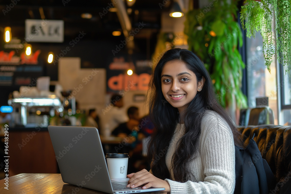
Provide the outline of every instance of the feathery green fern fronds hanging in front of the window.
[[[291,0],[246,0],[241,8],[241,24],[246,35],[255,37],[260,31],[263,38],[265,65],[270,71],[272,57],[276,57],[290,72],[290,16]],[[272,33],[272,19],[275,18],[275,33]]]

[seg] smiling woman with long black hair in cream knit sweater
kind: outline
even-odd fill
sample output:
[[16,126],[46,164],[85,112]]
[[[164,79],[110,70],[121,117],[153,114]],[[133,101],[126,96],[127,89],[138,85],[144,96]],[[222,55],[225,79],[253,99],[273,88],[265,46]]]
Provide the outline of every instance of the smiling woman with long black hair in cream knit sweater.
[[[233,193],[238,131],[217,103],[200,59],[186,49],[166,51],[150,85],[151,170],[127,175],[128,187],[171,193]],[[161,150],[165,150],[161,154]]]

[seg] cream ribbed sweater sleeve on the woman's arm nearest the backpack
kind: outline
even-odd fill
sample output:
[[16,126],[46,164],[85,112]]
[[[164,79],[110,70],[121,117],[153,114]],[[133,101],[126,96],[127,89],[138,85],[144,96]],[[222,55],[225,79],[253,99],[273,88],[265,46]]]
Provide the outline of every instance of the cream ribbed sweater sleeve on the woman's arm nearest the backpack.
[[232,131],[225,120],[219,115],[203,119],[199,145],[204,181],[180,183],[165,179],[170,184],[171,193],[233,193],[235,147]]

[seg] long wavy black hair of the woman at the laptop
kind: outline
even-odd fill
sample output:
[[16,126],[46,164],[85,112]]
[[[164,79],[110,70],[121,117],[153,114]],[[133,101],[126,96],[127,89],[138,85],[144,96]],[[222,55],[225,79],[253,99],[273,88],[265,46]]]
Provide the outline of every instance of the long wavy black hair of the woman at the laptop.
[[192,175],[187,168],[187,163],[193,159],[193,156],[196,156],[201,120],[205,110],[212,110],[221,115],[232,129],[235,144],[240,145],[241,142],[239,132],[232,120],[217,103],[212,80],[201,60],[187,49],[168,50],[155,66],[148,94],[150,119],[155,125],[148,150],[153,175],[160,179],[170,178],[165,159],[170,140],[179,121],[179,113],[177,108],[166,101],[162,93],[161,73],[164,65],[172,60],[183,62],[189,70],[195,73],[197,82],[201,81],[203,77],[205,78],[202,90],[197,92],[189,106],[180,113],[180,118],[185,124],[185,134],[178,141],[177,150],[172,158],[172,166],[175,181],[186,182]]

